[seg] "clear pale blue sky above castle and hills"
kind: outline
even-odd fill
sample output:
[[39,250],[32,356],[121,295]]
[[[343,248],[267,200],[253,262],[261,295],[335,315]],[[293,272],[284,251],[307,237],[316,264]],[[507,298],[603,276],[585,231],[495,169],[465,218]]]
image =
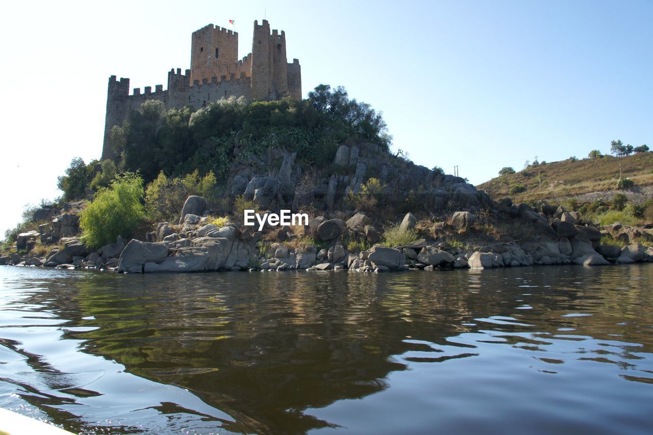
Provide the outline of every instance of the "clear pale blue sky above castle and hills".
[[383,111],[394,150],[473,184],[613,139],[653,148],[650,0],[6,2],[3,233],[61,194],[73,157],[99,158],[110,75],[166,88],[193,31],[235,20],[242,57],[264,17],[300,59],[304,96],[345,86]]

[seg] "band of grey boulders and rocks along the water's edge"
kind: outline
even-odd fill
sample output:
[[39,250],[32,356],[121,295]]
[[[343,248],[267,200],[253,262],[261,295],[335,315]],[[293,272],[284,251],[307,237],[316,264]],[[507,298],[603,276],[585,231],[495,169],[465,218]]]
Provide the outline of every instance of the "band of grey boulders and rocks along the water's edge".
[[[382,234],[366,214],[357,213],[346,221],[318,216],[301,227],[270,227],[253,231],[238,223],[210,223],[210,211],[201,197],[191,196],[183,206],[179,223],[159,223],[142,240],[118,240],[89,251],[76,235],[78,219],[64,213],[41,225],[39,231],[19,234],[16,248],[27,253],[0,256],[0,264],[80,268],[119,273],[209,272],[219,270],[352,270],[386,272],[435,268],[498,268],[534,265],[598,266],[653,261],[653,250],[639,241],[652,236],[637,227],[616,223],[597,227],[582,223],[577,212],[543,204],[535,210],[527,204],[513,205],[505,199],[492,214],[513,227],[531,229],[528,238],[515,240],[509,234],[488,236],[475,225],[479,217],[471,211],[454,212],[446,221],[428,229],[430,238],[403,246],[379,244]],[[414,230],[418,219],[408,213],[401,231]],[[306,238],[310,236],[310,238]],[[451,237],[456,236],[456,242]],[[624,247],[601,244],[609,236]],[[52,242],[46,255],[33,253],[36,241]],[[316,244],[307,244],[311,240]],[[462,242],[461,242],[462,240]],[[479,240],[491,243],[485,246]],[[369,249],[348,250],[351,242]],[[464,243],[466,242],[466,243]],[[360,246],[360,244],[358,246]],[[458,246],[456,246],[458,245]]]

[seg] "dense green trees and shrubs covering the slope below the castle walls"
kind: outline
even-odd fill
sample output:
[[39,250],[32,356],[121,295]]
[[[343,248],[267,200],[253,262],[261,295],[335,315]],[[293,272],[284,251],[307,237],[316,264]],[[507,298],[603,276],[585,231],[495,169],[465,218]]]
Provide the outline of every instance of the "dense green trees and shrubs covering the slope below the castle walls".
[[[282,149],[295,152],[302,165],[321,168],[332,163],[343,142],[373,142],[389,152],[392,137],[381,112],[350,99],[342,87],[320,85],[303,101],[247,103],[231,97],[197,110],[165,110],[161,101],[146,101],[112,129],[111,139],[116,161],[73,159],[57,183],[63,191],[59,202],[90,201],[80,226],[92,247],[129,236],[145,222],[176,219],[189,195],[228,213],[224,193],[236,155],[247,159]],[[37,225],[24,216],[5,238],[12,243],[31,229]]]

